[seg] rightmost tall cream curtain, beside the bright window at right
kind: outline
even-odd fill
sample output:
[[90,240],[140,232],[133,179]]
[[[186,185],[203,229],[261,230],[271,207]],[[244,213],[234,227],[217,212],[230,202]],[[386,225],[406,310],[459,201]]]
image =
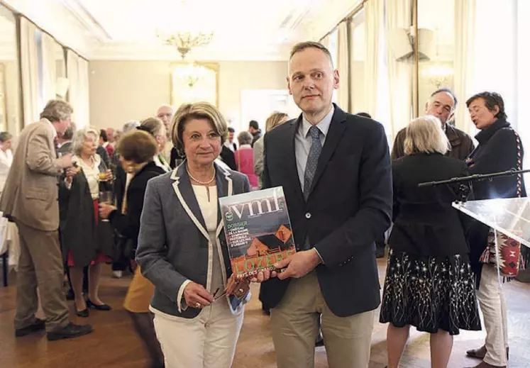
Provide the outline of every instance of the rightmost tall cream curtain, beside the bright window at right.
[[460,99],[456,106],[457,128],[473,135],[465,100],[473,94],[475,86],[475,33],[476,0],[455,0],[455,94]]

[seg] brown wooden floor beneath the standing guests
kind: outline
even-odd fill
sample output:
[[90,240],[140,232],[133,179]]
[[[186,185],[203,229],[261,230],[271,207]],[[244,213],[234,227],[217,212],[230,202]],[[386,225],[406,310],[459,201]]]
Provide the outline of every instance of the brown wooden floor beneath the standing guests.
[[[385,260],[380,260],[379,265],[382,280],[385,275]],[[110,273],[110,269],[106,268],[101,281],[101,299],[114,310],[91,311],[87,319],[72,315],[75,322],[89,322],[94,326],[92,335],[74,340],[48,342],[43,333],[14,338],[16,287],[0,286],[0,368],[146,367],[143,347],[121,306],[130,277],[117,280],[112,279]],[[12,276],[11,284],[14,284],[13,279]],[[504,289],[509,311],[509,367],[530,367],[530,284],[513,281],[505,284]],[[245,323],[238,342],[234,368],[272,368],[276,365],[268,318],[261,313],[257,299],[258,286],[253,286],[253,299],[245,310]],[[73,302],[69,304],[73,311]],[[376,319],[370,368],[382,368],[386,364],[385,334],[386,325],[381,325]],[[465,350],[479,347],[483,338],[483,332],[463,331],[456,336],[449,367],[461,368],[477,364],[476,360],[465,358]],[[316,349],[316,367],[327,367],[324,347]],[[428,334],[412,332],[402,367],[430,367]]]

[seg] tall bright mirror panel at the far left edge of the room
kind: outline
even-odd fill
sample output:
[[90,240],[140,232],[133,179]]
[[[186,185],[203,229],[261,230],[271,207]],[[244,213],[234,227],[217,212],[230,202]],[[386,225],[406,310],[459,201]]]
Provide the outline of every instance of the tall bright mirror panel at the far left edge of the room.
[[21,130],[20,84],[15,17],[0,4],[0,130]]

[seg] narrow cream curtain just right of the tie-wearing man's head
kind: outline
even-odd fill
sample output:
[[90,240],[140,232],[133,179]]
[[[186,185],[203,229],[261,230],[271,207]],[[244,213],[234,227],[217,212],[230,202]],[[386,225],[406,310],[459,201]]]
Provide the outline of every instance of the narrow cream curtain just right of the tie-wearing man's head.
[[350,113],[350,52],[348,48],[348,21],[338,25],[337,69],[340,84],[337,90],[337,103],[344,111]]

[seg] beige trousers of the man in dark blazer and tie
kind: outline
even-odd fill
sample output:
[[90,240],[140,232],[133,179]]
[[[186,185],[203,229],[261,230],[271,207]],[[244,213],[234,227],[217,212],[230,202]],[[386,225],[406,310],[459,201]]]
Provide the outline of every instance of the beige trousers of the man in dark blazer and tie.
[[314,367],[314,345],[321,316],[329,367],[368,368],[374,313],[335,316],[324,301],[315,272],[292,279],[280,304],[271,310],[277,367]]

